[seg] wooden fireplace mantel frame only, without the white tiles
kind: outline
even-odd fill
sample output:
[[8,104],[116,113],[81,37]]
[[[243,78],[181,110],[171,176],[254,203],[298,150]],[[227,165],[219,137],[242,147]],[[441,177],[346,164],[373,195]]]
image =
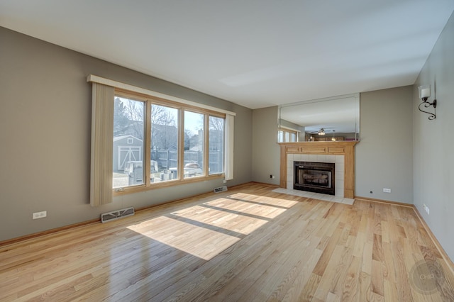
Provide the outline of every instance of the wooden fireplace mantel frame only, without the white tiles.
[[357,141],[279,142],[281,146],[280,187],[287,188],[288,154],[344,155],[344,197],[355,198],[355,145]]

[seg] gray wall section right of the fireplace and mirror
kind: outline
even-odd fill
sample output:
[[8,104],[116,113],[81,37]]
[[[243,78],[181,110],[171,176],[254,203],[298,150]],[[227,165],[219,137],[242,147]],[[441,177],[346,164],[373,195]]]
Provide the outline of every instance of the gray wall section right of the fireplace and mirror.
[[413,86],[360,94],[355,196],[413,203],[412,98]]

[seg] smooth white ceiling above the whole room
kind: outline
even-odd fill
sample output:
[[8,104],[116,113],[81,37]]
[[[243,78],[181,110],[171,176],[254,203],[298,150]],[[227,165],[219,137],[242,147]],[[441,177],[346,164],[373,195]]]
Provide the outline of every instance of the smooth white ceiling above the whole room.
[[0,0],[0,26],[249,108],[414,84],[454,0]]

